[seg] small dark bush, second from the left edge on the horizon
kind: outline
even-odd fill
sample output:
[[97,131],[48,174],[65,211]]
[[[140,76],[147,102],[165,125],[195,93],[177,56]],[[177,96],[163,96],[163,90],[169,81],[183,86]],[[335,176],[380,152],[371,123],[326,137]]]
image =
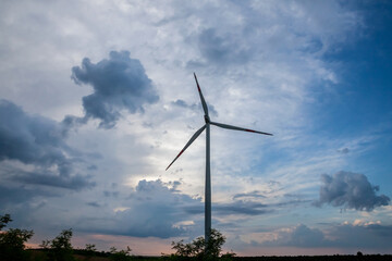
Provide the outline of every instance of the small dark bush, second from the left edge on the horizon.
[[71,245],[72,229],[62,231],[54,239],[44,240],[40,245],[48,251],[50,261],[74,261],[73,249]]

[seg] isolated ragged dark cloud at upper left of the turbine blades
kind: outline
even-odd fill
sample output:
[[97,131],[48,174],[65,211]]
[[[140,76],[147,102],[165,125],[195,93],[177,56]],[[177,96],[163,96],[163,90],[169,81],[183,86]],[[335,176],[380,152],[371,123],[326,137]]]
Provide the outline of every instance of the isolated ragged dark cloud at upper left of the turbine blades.
[[98,119],[100,127],[110,128],[120,119],[122,110],[144,112],[144,104],[159,99],[140,61],[131,59],[128,51],[111,51],[109,59],[96,64],[85,58],[82,66],[72,69],[72,79],[79,85],[93,86],[94,94],[83,97],[85,116],[66,116],[66,125]]

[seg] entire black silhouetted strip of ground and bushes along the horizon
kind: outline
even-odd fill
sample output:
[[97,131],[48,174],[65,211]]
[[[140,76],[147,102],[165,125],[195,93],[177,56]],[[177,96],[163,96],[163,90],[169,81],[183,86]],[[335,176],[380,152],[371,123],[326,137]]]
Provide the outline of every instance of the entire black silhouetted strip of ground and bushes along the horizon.
[[198,237],[192,243],[183,240],[172,243],[172,254],[162,257],[136,257],[131,254],[131,248],[118,250],[112,247],[109,252],[97,251],[93,244],[86,244],[84,249],[73,249],[71,245],[72,229],[62,231],[54,239],[44,240],[39,249],[26,249],[25,244],[34,235],[33,231],[9,228],[12,222],[9,214],[0,215],[0,261],[131,261],[131,260],[238,260],[238,261],[384,261],[392,260],[392,254],[356,254],[334,256],[299,256],[299,257],[235,257],[235,253],[221,254],[225,237],[212,229],[209,244]]

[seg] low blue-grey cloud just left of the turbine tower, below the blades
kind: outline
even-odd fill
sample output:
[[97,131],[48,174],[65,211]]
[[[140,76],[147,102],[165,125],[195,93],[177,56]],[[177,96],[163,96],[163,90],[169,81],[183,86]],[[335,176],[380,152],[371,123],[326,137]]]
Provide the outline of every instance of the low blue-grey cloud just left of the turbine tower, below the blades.
[[[81,229],[89,227],[90,231],[135,237],[169,238],[184,235],[192,229],[192,225],[181,225],[182,222],[195,221],[203,217],[189,214],[184,209],[189,206],[201,206],[200,199],[194,199],[177,190],[180,182],[163,183],[157,181],[140,181],[135,190],[119,210],[110,217],[108,223],[95,224],[93,219],[86,219]],[[106,196],[112,196],[107,191]],[[103,227],[103,228],[102,228]]]

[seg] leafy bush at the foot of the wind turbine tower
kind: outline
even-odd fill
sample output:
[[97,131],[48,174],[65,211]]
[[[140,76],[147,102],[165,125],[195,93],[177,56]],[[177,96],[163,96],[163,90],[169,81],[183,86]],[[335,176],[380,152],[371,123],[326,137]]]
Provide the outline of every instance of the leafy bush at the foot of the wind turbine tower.
[[[197,237],[192,243],[184,244],[184,240],[172,243],[172,249],[175,253],[167,256],[172,260],[218,260],[225,237],[217,229],[211,229],[211,235],[206,244],[204,237]],[[231,260],[235,253],[225,253],[222,256],[224,260]]]

